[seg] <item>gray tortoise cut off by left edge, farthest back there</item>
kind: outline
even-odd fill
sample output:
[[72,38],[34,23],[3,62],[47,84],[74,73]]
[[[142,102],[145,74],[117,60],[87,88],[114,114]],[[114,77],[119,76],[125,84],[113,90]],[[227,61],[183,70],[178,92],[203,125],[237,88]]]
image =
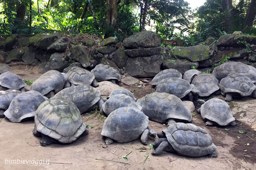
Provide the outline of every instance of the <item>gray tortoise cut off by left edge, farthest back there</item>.
[[26,83],[11,71],[6,71],[0,75],[0,91],[5,91],[8,89],[25,91],[24,87]]

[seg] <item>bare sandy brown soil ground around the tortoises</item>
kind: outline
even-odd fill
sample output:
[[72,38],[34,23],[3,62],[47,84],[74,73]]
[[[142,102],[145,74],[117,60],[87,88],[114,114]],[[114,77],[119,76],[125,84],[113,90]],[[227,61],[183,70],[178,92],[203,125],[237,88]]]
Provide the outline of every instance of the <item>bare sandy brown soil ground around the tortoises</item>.
[[[10,66],[13,72],[21,78],[35,80],[41,75],[37,71],[37,66]],[[136,85],[122,86],[134,93],[137,99],[154,91],[151,85],[145,86],[144,90],[143,87],[137,88]],[[29,90],[29,87],[26,89]],[[222,96],[217,97],[222,98]],[[98,112],[82,115],[84,123],[89,127],[87,136],[80,136],[71,144],[51,144],[47,147],[41,147],[40,139],[32,134],[33,119],[22,123],[12,123],[7,119],[0,119],[0,168],[1,170],[255,170],[255,102],[255,99],[249,97],[229,102],[233,116],[236,118],[237,125],[235,127],[208,127],[204,125],[200,114],[193,113],[192,123],[207,130],[217,146],[218,158],[212,159],[207,156],[189,158],[168,152],[163,152],[160,156],[153,156],[151,150],[149,150],[149,156],[146,159],[147,152],[142,147],[148,148],[149,146],[144,146],[139,139],[123,144],[114,142],[106,146],[100,135],[105,118]],[[166,125],[150,121],[149,127],[158,132],[165,129]],[[154,139],[150,138],[148,144],[150,143],[154,143]],[[130,153],[127,156],[128,159],[121,158],[128,153]],[[10,163],[10,160],[17,159],[44,160],[47,163],[40,166],[40,162],[38,165],[35,163]]]

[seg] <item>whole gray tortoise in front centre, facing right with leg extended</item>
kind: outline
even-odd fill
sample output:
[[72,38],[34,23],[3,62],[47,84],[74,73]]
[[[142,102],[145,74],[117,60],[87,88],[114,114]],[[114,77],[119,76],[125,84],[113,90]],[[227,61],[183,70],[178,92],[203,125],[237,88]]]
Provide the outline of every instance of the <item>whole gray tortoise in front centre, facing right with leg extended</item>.
[[107,145],[113,140],[119,143],[131,142],[141,135],[141,142],[148,144],[148,135],[156,137],[154,130],[148,127],[148,116],[135,108],[118,108],[105,120],[101,135]]

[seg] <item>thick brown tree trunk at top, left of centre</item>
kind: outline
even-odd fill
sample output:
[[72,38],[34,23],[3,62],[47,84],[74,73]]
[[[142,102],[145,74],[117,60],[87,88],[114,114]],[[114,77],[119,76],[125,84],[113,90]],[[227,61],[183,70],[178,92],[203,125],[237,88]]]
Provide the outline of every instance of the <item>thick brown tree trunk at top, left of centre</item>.
[[117,15],[117,0],[107,0],[106,25],[112,26],[115,29]]

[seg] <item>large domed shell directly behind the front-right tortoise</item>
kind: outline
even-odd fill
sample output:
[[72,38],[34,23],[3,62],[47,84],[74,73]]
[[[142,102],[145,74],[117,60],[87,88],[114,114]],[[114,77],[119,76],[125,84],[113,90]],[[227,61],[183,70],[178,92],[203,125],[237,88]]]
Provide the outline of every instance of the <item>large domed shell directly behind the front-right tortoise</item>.
[[150,120],[165,123],[167,119],[192,121],[192,115],[184,103],[175,95],[168,93],[151,93],[137,100],[141,111]]

